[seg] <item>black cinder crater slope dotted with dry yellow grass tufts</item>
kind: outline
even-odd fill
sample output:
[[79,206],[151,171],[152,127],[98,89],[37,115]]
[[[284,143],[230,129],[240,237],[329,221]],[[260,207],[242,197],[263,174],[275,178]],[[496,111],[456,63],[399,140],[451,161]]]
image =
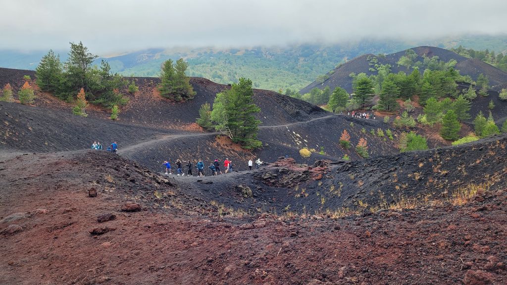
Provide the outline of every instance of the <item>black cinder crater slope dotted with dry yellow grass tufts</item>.
[[[507,135],[503,135],[458,147],[351,162],[320,161],[312,167],[282,159],[252,172],[205,177],[202,183],[193,180],[189,191],[234,208],[276,212],[312,213],[410,199],[445,200],[469,184],[505,188],[506,147]],[[251,199],[243,197],[245,187],[252,190]]]

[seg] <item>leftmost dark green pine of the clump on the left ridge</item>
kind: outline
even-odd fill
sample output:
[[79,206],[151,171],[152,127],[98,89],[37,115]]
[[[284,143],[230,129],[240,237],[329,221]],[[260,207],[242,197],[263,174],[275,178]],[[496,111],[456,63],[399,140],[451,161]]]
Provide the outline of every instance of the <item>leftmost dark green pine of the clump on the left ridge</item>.
[[61,89],[62,76],[60,56],[50,50],[35,68],[35,77],[37,78],[35,84],[43,91],[56,92]]

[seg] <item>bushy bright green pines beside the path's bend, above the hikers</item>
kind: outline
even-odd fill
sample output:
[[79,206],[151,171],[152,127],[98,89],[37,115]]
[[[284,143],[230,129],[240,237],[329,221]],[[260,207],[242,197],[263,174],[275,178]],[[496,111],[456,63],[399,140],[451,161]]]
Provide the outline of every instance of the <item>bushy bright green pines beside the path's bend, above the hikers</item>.
[[261,121],[255,117],[259,112],[261,109],[253,102],[251,80],[240,78],[230,89],[216,94],[212,110],[209,103],[201,105],[196,123],[220,131],[245,149],[255,149],[262,146],[257,139]]

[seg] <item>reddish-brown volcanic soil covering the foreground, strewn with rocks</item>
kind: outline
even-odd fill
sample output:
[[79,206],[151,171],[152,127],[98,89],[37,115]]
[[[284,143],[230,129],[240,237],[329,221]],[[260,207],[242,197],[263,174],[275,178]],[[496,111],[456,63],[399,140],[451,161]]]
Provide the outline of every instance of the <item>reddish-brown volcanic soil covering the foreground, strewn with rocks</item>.
[[332,220],[222,217],[105,152],[11,157],[0,177],[2,284],[507,282],[504,190]]

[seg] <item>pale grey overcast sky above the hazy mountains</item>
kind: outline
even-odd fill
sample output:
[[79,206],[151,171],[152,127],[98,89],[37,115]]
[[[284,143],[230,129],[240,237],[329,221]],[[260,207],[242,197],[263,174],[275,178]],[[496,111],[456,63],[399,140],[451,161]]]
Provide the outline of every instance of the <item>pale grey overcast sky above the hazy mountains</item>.
[[506,0],[0,0],[0,49],[340,43],[507,33]]

